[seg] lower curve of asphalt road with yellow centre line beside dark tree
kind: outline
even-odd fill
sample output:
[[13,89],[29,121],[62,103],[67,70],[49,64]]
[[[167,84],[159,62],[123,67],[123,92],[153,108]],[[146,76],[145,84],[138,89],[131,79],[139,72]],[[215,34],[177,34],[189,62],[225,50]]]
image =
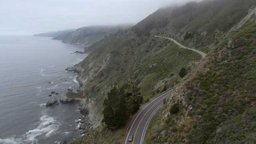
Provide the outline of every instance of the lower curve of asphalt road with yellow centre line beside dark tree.
[[[156,98],[143,106],[132,120],[126,133],[124,144],[142,144],[143,136],[146,132],[146,126],[154,112],[163,104],[164,99],[172,92],[172,89],[158,95]],[[133,141],[129,142],[128,137],[133,135]]]

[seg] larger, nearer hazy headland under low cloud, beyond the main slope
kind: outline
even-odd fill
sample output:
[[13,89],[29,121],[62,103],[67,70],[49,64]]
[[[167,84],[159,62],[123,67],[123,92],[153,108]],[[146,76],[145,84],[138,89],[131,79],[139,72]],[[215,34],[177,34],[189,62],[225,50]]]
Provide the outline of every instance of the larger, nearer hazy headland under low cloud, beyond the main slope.
[[92,45],[98,40],[114,34],[120,30],[125,30],[129,28],[130,25],[119,25],[119,26],[86,26],[78,28],[74,32],[68,34],[61,34],[54,37],[54,40],[62,40],[62,42],[67,42],[70,44],[84,44]]

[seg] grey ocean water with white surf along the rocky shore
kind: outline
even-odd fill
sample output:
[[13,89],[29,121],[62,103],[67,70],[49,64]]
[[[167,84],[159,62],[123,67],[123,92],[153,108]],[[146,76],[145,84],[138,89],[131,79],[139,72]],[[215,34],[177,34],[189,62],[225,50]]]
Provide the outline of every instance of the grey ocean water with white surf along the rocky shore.
[[[46,107],[52,91],[76,90],[64,69],[83,60],[83,46],[50,38],[0,36],[0,144],[54,144],[80,136],[77,103]],[[51,84],[49,84],[51,82]]]

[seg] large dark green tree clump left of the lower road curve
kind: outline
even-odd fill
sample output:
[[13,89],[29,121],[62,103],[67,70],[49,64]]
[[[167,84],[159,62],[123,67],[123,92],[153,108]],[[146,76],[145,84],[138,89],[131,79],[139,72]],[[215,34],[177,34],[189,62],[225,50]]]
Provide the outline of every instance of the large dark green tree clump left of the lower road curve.
[[108,92],[108,98],[104,100],[102,122],[112,130],[124,126],[130,115],[139,110],[142,100],[136,87],[125,84],[119,89],[113,88]]

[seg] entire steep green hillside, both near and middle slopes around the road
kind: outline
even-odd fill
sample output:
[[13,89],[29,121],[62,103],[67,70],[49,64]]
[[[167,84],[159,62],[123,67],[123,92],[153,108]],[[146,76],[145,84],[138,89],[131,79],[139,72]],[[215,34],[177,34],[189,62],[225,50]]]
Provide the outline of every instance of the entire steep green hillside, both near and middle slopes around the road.
[[[101,120],[107,93],[124,84],[140,88],[144,103],[178,84],[150,123],[145,143],[228,143],[222,139],[226,131],[245,121],[224,126],[243,115],[250,123],[254,118],[249,115],[255,106],[255,14],[249,9],[255,6],[255,0],[204,0],[160,8],[128,31],[89,47],[92,54],[71,70],[80,73],[82,106],[95,129],[74,143],[122,141],[126,127],[113,132]],[[151,35],[174,38],[209,56],[201,59],[196,52]],[[184,69],[188,75],[181,78]],[[170,114],[173,106],[178,114]]]

